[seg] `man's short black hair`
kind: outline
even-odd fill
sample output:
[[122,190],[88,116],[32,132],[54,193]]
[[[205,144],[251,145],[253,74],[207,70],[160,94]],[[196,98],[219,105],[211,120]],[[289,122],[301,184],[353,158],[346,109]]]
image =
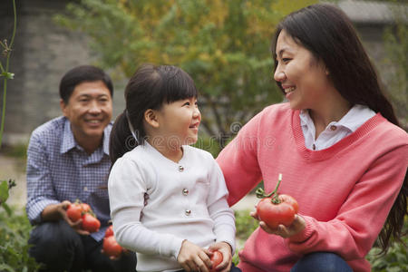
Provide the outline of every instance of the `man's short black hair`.
[[92,65],[81,65],[74,67],[63,75],[60,82],[60,98],[65,104],[70,100],[73,90],[78,84],[86,82],[102,81],[111,92],[113,97],[113,84],[111,77],[104,73],[102,69]]

